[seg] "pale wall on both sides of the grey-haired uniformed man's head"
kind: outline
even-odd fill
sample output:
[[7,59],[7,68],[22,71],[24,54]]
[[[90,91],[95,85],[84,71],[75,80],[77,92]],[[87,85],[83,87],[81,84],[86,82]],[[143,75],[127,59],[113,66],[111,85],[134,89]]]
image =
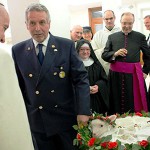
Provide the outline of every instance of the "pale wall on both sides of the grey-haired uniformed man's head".
[[[15,2],[16,1],[16,2]],[[30,34],[25,25],[25,9],[30,3],[39,0],[8,0],[8,9],[11,18],[12,43],[16,44],[22,40],[30,38]],[[59,0],[40,0],[50,11],[51,28],[54,35],[70,37],[70,18],[69,10],[64,1]],[[59,3],[59,5],[58,5]],[[19,7],[18,7],[19,6]]]

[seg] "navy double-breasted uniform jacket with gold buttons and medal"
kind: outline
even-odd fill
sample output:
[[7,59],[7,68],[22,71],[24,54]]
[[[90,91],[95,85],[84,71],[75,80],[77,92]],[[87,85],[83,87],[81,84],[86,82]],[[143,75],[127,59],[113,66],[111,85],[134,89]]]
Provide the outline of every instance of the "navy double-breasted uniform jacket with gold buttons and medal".
[[50,34],[42,66],[32,39],[12,54],[33,131],[53,135],[72,128],[77,114],[90,115],[87,72],[73,41]]

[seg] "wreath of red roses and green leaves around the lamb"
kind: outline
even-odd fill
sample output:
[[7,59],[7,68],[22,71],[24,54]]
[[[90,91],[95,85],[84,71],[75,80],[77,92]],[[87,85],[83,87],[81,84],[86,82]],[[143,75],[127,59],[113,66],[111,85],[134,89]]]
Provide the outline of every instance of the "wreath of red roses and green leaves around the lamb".
[[[140,116],[140,117],[150,117],[150,112],[137,112],[137,113],[124,113],[122,115],[116,114],[117,118],[126,117],[126,116]],[[81,150],[150,150],[150,136],[147,140],[139,141],[138,143],[132,144],[121,144],[121,141],[111,141],[112,135],[108,135],[102,138],[95,138],[92,136],[89,125],[93,119],[101,119],[106,121],[115,127],[115,122],[111,122],[111,120],[106,116],[103,117],[102,114],[94,113],[93,116],[90,117],[89,122],[86,126],[79,123],[78,125],[74,125],[73,128],[77,130],[76,139],[74,139],[73,144],[79,146]]]

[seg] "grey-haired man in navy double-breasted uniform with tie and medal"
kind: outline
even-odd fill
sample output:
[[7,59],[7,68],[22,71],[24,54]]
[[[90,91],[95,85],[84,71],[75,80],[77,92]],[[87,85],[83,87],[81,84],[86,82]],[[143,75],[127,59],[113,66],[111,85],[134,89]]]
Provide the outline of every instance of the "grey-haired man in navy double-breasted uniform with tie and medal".
[[77,121],[90,115],[88,75],[74,42],[53,36],[41,4],[26,9],[32,38],[12,48],[20,88],[38,150],[73,150]]

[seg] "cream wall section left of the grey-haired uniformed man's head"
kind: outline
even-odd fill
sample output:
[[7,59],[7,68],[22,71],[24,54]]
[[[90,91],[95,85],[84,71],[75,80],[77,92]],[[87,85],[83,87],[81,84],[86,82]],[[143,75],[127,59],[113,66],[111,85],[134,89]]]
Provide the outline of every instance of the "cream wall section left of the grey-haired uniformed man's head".
[[12,44],[30,37],[25,25],[25,9],[30,3],[34,2],[38,2],[38,0],[7,0],[10,15]]

